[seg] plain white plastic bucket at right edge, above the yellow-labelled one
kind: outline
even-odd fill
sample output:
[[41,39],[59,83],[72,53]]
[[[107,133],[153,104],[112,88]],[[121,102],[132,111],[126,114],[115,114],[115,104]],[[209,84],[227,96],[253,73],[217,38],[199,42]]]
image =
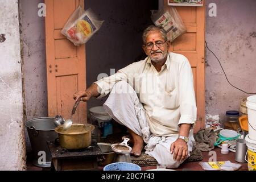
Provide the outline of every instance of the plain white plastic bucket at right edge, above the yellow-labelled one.
[[256,96],[247,97],[249,138],[256,141]]

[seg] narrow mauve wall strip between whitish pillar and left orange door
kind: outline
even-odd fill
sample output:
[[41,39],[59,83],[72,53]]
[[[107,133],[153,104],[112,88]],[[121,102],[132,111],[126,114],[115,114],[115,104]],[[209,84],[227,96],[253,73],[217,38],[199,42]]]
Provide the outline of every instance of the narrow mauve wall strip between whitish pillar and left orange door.
[[[43,0],[19,1],[23,57],[24,121],[47,117],[46,43],[44,16],[38,15]],[[41,7],[41,6],[39,6]],[[31,151],[27,129],[27,150]]]

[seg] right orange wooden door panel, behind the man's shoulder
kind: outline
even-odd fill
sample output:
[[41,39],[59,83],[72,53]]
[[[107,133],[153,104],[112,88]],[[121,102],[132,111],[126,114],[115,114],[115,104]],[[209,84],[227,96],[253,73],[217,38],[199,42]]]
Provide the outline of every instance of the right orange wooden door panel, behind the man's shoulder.
[[186,56],[192,67],[197,105],[197,121],[194,129],[196,133],[205,127],[205,7],[175,6],[175,8],[187,28],[187,33],[174,40],[170,51]]

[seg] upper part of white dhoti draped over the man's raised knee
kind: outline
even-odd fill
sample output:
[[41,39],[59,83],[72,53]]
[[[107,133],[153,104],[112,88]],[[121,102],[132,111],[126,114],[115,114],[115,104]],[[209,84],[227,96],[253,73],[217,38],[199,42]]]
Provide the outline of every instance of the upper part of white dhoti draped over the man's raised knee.
[[[122,93],[122,90],[129,90],[129,93]],[[150,130],[144,108],[127,82],[119,81],[114,85],[103,107],[115,121],[133,130],[148,143]]]

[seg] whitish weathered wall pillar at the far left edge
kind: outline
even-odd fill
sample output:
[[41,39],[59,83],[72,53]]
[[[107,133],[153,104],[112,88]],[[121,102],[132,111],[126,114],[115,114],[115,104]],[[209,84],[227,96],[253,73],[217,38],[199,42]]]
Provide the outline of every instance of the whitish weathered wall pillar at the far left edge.
[[23,170],[26,148],[18,0],[0,0],[0,4],[0,170]]

